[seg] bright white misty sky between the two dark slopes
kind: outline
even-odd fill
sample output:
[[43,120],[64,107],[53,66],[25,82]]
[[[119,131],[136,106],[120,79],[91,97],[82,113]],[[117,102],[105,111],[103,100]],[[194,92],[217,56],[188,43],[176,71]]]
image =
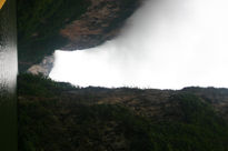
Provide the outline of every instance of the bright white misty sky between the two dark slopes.
[[228,87],[227,7],[226,0],[148,0],[116,39],[57,50],[50,78],[81,87]]

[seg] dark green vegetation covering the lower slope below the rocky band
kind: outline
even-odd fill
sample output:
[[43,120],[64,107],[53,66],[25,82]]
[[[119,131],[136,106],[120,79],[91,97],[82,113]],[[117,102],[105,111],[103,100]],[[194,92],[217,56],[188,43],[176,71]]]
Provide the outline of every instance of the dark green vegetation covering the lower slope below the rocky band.
[[[228,150],[228,124],[210,103],[192,93],[170,94],[162,119],[150,119],[119,102],[86,103],[95,99],[90,88],[30,74],[19,76],[18,81],[19,151]],[[115,91],[93,90],[103,98]],[[77,93],[70,97],[69,91]],[[118,91],[127,95],[131,89]],[[143,90],[132,91],[140,95]]]

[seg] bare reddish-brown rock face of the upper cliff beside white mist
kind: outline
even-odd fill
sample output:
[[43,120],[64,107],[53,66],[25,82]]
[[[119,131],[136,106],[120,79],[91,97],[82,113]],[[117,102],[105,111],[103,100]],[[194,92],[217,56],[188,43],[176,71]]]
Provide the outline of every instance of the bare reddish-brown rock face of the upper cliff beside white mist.
[[60,30],[68,39],[62,49],[86,49],[112,39],[139,4],[140,0],[91,0],[80,19]]

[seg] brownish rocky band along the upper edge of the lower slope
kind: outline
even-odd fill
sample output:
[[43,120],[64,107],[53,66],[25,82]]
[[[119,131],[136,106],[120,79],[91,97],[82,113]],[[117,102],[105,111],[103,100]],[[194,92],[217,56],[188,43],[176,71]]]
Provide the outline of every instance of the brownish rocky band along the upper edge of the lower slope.
[[175,103],[170,101],[170,97],[181,93],[191,93],[210,103],[225,120],[228,121],[228,90],[215,88],[185,88],[182,90],[157,90],[157,89],[105,89],[105,88],[87,88],[81,90],[71,90],[62,93],[62,97],[77,100],[80,97],[90,95],[92,102],[98,104],[122,104],[132,109],[142,117],[152,119],[162,119],[166,117],[163,110],[166,108],[175,108]]

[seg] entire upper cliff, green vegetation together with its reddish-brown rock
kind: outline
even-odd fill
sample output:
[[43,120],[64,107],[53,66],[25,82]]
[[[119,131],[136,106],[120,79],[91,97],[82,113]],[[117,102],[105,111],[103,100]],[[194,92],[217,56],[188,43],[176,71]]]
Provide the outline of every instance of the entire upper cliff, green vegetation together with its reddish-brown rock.
[[42,66],[42,59],[57,49],[87,49],[112,39],[140,2],[141,0],[79,0],[77,3],[69,0],[67,3],[59,0],[56,3],[53,0],[18,0],[20,72],[34,64],[33,72],[38,72],[34,69],[50,70],[38,66]]

